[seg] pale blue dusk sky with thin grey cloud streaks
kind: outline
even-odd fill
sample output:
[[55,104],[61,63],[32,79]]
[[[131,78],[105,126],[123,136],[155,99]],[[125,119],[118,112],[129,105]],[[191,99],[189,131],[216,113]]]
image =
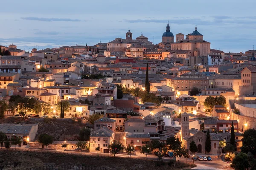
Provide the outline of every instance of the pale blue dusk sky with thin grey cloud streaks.
[[141,32],[161,42],[167,20],[175,35],[197,25],[211,48],[244,52],[256,45],[255,0],[9,0],[1,2],[0,45],[22,50],[95,45]]

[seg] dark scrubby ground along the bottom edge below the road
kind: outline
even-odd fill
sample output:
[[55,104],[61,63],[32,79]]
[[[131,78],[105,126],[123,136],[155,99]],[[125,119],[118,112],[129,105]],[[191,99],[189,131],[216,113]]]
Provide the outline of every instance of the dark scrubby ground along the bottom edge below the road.
[[1,170],[189,170],[192,164],[120,157],[0,151]]

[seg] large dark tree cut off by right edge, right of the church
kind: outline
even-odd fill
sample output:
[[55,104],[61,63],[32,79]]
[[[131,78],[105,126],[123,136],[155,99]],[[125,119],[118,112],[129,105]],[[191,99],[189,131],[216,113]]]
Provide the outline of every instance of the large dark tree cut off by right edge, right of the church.
[[251,152],[253,155],[256,154],[256,130],[248,129],[244,131],[243,145],[241,147],[241,152],[248,153]]

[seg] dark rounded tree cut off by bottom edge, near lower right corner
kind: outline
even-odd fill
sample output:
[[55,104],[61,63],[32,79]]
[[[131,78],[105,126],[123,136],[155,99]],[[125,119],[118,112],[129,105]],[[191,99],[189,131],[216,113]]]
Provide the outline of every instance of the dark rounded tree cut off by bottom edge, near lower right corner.
[[245,153],[239,153],[232,161],[231,167],[235,170],[248,170],[250,167],[248,156]]

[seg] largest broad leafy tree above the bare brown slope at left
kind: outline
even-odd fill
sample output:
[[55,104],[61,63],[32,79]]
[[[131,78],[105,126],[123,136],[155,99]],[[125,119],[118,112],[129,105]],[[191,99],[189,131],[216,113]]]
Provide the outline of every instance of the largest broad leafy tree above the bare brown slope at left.
[[35,109],[36,100],[33,97],[25,96],[18,98],[17,103],[18,113],[24,118],[27,111],[33,111]]

